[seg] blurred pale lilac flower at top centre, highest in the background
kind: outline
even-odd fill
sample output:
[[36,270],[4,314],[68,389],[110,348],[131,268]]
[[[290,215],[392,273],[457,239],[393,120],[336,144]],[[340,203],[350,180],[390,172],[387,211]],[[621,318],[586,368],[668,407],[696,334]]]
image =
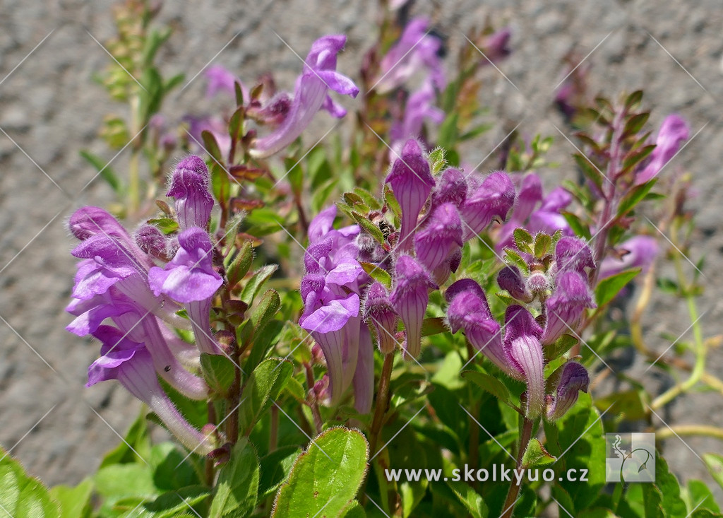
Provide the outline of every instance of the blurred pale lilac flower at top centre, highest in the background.
[[440,58],[442,41],[429,34],[428,25],[427,19],[415,18],[404,27],[399,41],[382,57],[377,92],[387,93],[398,88],[420,70],[428,75],[435,88],[445,88],[447,80]]

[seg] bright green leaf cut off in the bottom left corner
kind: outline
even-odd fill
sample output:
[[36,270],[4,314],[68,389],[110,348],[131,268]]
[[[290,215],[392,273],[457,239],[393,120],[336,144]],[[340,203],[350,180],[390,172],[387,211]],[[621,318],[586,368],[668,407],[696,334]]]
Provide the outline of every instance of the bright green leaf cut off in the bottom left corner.
[[59,506],[40,480],[0,448],[0,506],[12,517],[56,518]]

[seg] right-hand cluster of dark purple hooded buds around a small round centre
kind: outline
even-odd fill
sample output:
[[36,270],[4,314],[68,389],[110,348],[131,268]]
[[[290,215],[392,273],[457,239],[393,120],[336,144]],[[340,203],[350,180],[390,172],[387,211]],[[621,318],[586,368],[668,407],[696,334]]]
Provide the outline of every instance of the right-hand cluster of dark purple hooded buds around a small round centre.
[[[526,416],[561,417],[575,402],[578,391],[587,390],[588,373],[582,365],[568,362],[560,371],[555,391],[546,394],[544,367],[552,344],[563,334],[576,334],[586,308],[595,307],[588,273],[595,267],[589,247],[576,237],[562,237],[555,254],[533,262],[529,275],[517,266],[502,268],[497,283],[515,300],[505,311],[505,325],[495,320],[482,287],[472,279],[461,279],[445,293],[447,321],[453,333],[463,329],[472,346],[497,368],[526,383]],[[538,299],[539,317],[525,307]],[[502,331],[504,327],[504,331]]]

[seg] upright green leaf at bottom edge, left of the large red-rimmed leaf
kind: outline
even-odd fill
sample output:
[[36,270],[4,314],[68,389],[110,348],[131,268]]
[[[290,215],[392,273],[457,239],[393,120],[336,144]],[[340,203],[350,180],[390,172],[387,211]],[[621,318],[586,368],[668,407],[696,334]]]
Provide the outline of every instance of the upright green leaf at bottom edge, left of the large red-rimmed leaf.
[[256,450],[241,438],[231,450],[231,459],[218,474],[210,518],[235,518],[251,514],[259,490],[259,459]]

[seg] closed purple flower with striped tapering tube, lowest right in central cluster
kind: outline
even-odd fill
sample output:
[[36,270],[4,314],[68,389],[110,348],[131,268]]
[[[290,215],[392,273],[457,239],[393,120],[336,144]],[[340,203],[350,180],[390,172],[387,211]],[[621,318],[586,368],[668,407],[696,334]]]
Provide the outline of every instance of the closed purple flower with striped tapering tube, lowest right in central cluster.
[[429,289],[435,289],[437,285],[422,265],[409,255],[400,255],[394,269],[395,285],[389,300],[406,330],[406,354],[416,358],[422,351],[422,323],[429,303]]

